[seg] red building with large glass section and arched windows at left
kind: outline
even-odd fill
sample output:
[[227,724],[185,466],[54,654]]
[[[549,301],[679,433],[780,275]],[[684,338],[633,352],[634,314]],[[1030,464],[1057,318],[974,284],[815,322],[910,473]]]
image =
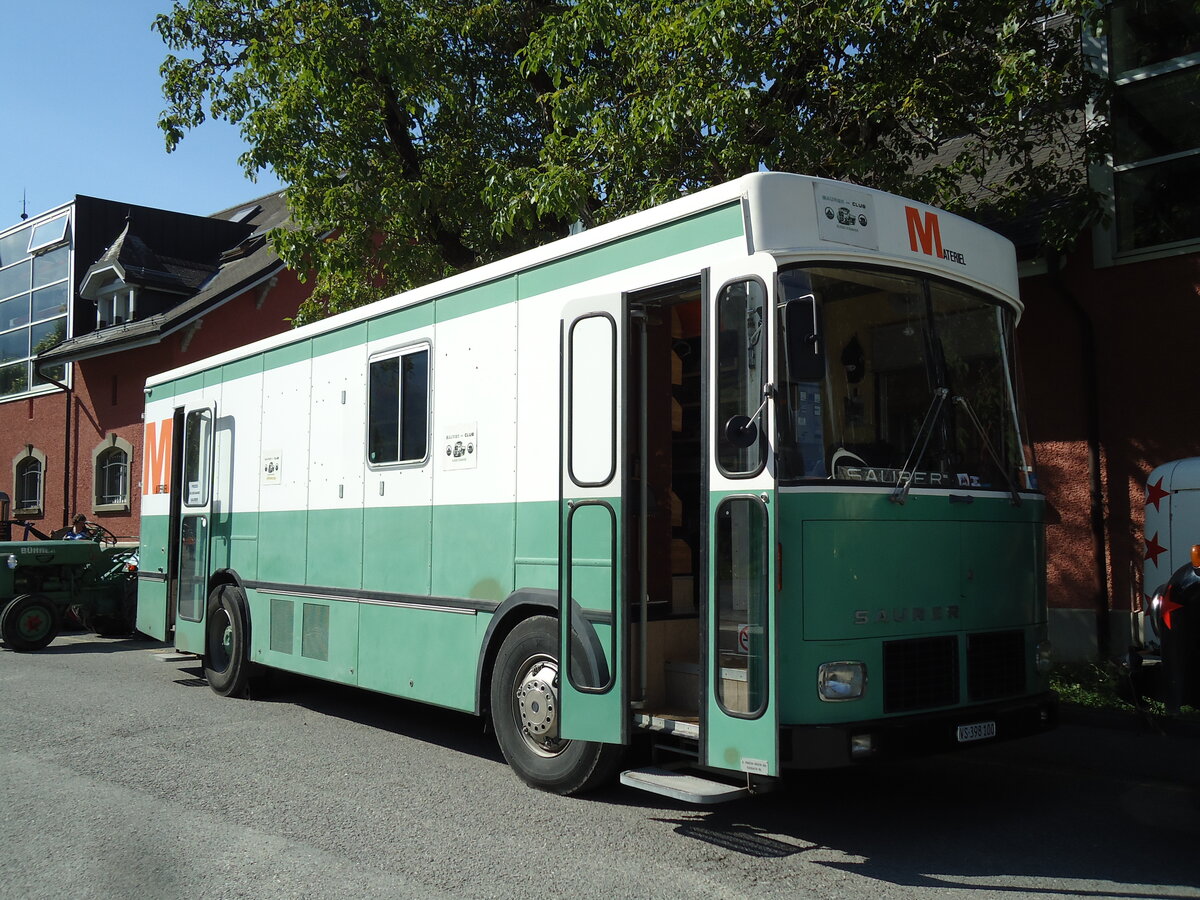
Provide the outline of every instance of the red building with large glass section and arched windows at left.
[[[137,540],[148,374],[288,328],[271,194],[215,216],[76,197],[0,232],[0,491],[49,532]],[[14,535],[18,536],[18,535]]]

